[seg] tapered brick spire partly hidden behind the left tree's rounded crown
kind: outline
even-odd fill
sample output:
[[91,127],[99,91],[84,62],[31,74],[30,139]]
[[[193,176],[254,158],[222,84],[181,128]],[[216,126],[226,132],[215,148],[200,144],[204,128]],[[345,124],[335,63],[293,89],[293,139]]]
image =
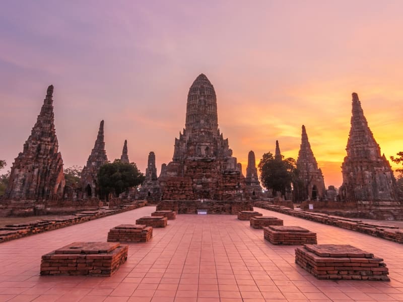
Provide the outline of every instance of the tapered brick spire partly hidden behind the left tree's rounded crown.
[[97,174],[102,165],[108,162],[108,157],[105,151],[104,142],[104,121],[102,120],[99,125],[98,136],[95,140],[94,148],[91,150],[91,154],[88,157],[87,165],[84,166],[81,173],[81,185],[84,189],[86,197],[97,196]]

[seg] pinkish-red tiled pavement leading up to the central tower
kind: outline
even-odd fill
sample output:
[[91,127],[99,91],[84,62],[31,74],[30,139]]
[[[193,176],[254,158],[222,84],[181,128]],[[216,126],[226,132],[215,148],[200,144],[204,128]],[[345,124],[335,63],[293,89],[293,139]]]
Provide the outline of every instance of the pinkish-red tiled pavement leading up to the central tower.
[[317,280],[294,263],[295,246],[274,246],[236,215],[177,215],[148,243],[129,244],[111,277],[40,276],[41,255],[75,241],[106,241],[143,207],[0,244],[1,301],[403,301],[403,245],[255,208],[317,232],[319,244],[351,244],[382,257],[390,282]]

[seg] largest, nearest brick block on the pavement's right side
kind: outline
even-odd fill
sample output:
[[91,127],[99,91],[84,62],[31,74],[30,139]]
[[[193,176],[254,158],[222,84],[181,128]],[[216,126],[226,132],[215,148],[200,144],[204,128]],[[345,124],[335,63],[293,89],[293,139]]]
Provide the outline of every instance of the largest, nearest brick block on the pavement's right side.
[[295,263],[318,279],[389,281],[383,259],[351,245],[304,245],[295,249]]

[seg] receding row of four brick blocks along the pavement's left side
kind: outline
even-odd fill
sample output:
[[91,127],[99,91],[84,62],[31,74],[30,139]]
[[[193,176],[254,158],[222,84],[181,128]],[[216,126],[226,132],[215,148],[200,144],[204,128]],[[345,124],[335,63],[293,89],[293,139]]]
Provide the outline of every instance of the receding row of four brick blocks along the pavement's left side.
[[147,242],[153,236],[153,228],[165,228],[167,220],[175,218],[173,211],[153,212],[152,216],[137,219],[136,224],[115,226],[108,233],[108,242],[64,246],[42,256],[40,274],[111,276],[127,260],[128,246],[119,242]]

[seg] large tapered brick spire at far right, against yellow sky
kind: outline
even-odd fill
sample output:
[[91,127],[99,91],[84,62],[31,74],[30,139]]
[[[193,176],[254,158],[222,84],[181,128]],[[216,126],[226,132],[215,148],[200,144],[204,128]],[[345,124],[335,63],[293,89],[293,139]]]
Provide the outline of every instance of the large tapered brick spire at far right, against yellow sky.
[[396,180],[368,127],[358,95],[353,93],[347,156],[342,165],[341,198],[347,201],[390,204],[397,200]]

